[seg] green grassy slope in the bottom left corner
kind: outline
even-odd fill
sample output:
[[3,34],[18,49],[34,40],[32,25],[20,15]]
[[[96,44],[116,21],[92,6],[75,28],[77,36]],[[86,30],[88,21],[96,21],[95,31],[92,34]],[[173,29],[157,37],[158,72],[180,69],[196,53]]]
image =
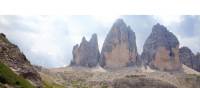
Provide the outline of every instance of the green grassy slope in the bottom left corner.
[[0,63],[0,87],[8,84],[18,88],[34,88],[28,80],[15,74],[9,67]]

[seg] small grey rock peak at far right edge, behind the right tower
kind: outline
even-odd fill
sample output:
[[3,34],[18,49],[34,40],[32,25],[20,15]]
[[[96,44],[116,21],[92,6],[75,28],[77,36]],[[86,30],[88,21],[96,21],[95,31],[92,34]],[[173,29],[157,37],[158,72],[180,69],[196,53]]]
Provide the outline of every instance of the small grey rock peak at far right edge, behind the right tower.
[[188,47],[181,47],[179,50],[179,57],[181,63],[185,64],[186,66],[200,71],[200,54],[194,55],[194,53]]

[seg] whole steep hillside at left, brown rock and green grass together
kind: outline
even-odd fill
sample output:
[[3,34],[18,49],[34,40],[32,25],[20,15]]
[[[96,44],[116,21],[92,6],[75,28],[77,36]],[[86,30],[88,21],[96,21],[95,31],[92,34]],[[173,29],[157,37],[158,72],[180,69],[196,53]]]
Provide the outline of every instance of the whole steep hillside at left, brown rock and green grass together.
[[[18,46],[12,44],[3,33],[0,33],[0,63],[2,63],[1,76],[11,85],[14,85],[16,82],[17,85],[22,83],[22,88],[23,86],[24,88],[32,88],[32,86],[36,88],[42,87],[43,83],[40,75],[33,68],[26,56],[20,51]],[[28,80],[32,86],[27,86],[29,84],[23,81],[24,79]]]

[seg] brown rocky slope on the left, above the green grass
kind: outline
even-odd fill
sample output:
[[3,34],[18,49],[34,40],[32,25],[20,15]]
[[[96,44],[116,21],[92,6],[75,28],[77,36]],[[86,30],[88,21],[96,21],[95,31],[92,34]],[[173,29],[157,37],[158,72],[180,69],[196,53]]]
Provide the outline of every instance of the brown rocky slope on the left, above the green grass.
[[9,66],[25,79],[30,80],[34,86],[42,87],[40,75],[19,48],[9,42],[3,33],[0,33],[0,62]]

